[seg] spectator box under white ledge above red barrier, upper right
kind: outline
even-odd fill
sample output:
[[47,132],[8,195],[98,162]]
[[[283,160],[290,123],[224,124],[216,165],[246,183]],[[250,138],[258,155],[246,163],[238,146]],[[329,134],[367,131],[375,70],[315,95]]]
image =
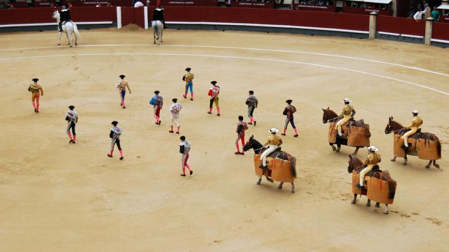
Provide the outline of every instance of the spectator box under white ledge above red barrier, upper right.
[[343,13],[366,14],[377,12],[379,15],[392,16],[392,0],[348,0],[344,1]]

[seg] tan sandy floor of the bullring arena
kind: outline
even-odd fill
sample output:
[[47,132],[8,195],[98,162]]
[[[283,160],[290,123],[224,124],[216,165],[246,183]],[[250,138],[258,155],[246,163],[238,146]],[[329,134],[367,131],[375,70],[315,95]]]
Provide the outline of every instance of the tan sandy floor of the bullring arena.
[[[149,46],[149,31],[81,34],[77,48],[57,47],[56,32],[0,36],[1,251],[447,251],[447,49],[176,30],[165,31],[163,45]],[[181,96],[186,67],[195,74],[194,101]],[[120,74],[132,91],[126,109],[114,88]],[[39,114],[27,91],[34,77],[44,89]],[[212,80],[221,87],[221,117],[206,113]],[[161,126],[148,104],[154,90],[165,99]],[[248,90],[260,104],[257,126],[246,135],[259,141],[269,128],[282,129],[285,100],[298,108],[300,137],[289,128],[282,146],[298,159],[294,194],[289,184],[255,184],[253,151],[234,155]],[[168,133],[174,97],[184,107],[181,134],[192,143],[194,174],[186,178],[179,176],[179,135]],[[327,143],[321,108],[339,112],[345,97],[356,118],[370,124],[381,168],[397,180],[389,215],[383,206],[365,207],[366,197],[350,204],[346,167],[354,149],[334,153]],[[68,105],[80,117],[76,145],[65,134]],[[413,109],[422,113],[423,131],[442,142],[441,171],[425,169],[427,161],[417,157],[407,166],[389,161],[388,117],[408,124]],[[113,120],[123,128],[122,161],[118,153],[106,156]]]

